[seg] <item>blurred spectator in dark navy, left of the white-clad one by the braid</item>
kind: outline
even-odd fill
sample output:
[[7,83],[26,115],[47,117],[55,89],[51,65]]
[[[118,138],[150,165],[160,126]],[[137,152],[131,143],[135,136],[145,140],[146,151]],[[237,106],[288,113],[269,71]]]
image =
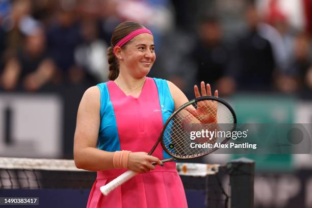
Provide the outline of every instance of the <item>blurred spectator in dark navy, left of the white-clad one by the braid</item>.
[[47,31],[48,53],[57,65],[58,82],[83,81],[85,72],[75,65],[74,49],[82,41],[80,24],[76,21],[74,9],[60,9],[56,23]]

